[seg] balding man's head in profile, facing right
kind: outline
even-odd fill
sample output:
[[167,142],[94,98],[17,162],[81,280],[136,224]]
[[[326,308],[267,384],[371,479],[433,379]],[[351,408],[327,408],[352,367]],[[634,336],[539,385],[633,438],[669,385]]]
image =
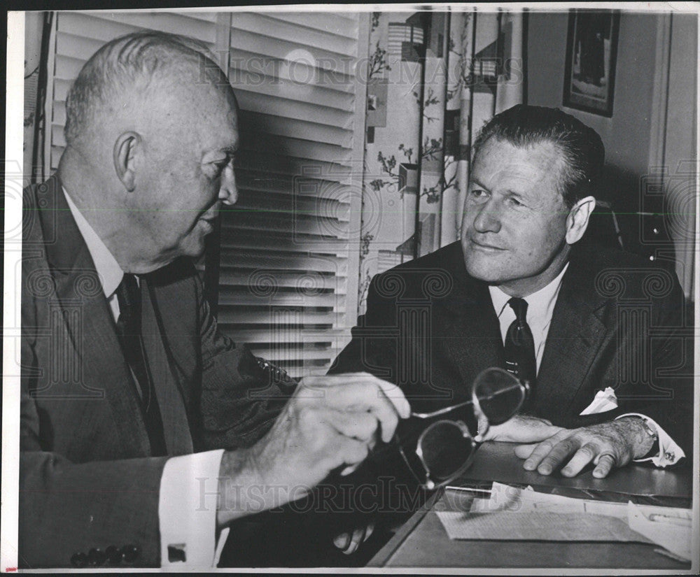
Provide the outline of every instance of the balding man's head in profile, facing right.
[[69,93],[59,174],[127,272],[200,256],[236,201],[238,106],[205,50],[130,34],[98,50]]

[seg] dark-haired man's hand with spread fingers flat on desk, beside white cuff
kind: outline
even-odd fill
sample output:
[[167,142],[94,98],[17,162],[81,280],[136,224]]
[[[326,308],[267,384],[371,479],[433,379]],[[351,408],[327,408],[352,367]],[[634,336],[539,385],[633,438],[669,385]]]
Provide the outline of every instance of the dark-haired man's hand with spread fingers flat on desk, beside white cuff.
[[646,455],[653,444],[640,418],[625,417],[580,429],[561,429],[542,443],[516,447],[515,454],[525,459],[525,469],[537,469],[542,475],[549,475],[568,460],[561,469],[563,476],[574,477],[593,462],[593,476],[603,478],[613,466],[625,466]]

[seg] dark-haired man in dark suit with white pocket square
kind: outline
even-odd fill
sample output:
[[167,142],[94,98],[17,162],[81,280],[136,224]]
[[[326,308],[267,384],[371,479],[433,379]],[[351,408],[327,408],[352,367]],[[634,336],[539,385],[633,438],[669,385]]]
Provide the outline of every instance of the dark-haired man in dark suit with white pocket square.
[[397,383],[415,411],[469,398],[486,367],[531,385],[479,440],[524,467],[605,477],[691,455],[692,325],[673,273],[584,239],[603,143],[574,117],[515,106],[474,146],[461,241],[372,279],[331,372]]

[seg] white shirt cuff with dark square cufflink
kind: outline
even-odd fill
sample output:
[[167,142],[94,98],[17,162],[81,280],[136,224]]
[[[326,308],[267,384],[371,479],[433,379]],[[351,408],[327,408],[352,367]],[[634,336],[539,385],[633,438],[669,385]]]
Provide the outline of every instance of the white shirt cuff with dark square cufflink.
[[[169,459],[160,478],[160,565],[216,567],[228,537],[216,536],[218,473],[223,449]],[[217,542],[218,541],[218,542]]]

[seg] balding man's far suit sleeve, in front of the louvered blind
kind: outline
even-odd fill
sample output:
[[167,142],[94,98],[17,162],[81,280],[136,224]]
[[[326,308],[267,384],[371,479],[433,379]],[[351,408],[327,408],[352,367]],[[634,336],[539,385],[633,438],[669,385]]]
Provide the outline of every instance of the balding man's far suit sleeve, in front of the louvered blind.
[[261,369],[246,346],[222,334],[200,280],[195,282],[202,343],[202,448],[251,446],[272,427],[297,383]]

